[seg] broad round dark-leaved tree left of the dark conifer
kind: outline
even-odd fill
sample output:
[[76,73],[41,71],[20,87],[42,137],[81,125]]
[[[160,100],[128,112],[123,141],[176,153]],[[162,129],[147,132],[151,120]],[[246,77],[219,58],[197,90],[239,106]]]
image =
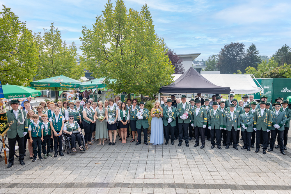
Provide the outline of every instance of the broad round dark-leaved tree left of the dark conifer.
[[245,45],[239,42],[231,42],[224,45],[218,54],[217,68],[221,74],[233,74],[237,70],[244,71],[242,61],[245,56]]

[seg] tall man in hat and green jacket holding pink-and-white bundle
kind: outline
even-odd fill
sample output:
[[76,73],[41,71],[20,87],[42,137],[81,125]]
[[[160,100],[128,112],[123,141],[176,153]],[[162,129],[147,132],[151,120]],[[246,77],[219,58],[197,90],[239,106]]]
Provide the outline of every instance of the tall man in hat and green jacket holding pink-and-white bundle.
[[[182,102],[177,105],[176,113],[178,117],[178,125],[179,125],[179,144],[182,145],[183,142],[183,131],[185,136],[185,144],[186,147],[189,147],[189,134],[188,127],[192,116],[191,104],[186,102],[186,95],[182,95]],[[188,116],[183,117],[183,114],[187,113]]]

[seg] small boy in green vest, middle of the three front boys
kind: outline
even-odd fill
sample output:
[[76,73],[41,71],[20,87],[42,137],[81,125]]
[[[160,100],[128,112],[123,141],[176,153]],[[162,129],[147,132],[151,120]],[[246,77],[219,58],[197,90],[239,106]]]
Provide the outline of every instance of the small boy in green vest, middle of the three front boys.
[[51,131],[51,124],[47,121],[47,115],[43,114],[41,116],[41,119],[42,119],[42,130],[43,130],[43,138],[42,138],[43,158],[47,158],[47,156],[52,157],[53,155],[49,153],[52,139],[53,139],[53,135]]

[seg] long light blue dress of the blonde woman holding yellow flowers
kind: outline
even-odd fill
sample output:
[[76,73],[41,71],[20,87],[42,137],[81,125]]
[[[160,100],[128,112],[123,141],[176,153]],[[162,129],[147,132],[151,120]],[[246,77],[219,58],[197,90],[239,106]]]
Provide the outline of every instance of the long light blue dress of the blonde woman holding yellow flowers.
[[150,143],[152,145],[164,144],[164,124],[162,118],[153,117],[151,122]]

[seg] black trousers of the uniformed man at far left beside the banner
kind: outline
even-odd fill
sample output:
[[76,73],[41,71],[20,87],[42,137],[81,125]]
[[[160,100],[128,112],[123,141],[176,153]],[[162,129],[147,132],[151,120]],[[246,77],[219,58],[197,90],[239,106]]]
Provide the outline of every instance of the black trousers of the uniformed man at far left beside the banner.
[[15,138],[8,138],[8,145],[9,145],[9,159],[8,162],[9,163],[13,163],[14,162],[14,154],[15,154],[15,144],[16,141],[18,143],[18,152],[19,152],[19,157],[18,157],[18,161],[23,161],[24,159],[24,153],[25,153],[25,149],[24,149],[24,137],[19,137],[18,134],[16,134]]

